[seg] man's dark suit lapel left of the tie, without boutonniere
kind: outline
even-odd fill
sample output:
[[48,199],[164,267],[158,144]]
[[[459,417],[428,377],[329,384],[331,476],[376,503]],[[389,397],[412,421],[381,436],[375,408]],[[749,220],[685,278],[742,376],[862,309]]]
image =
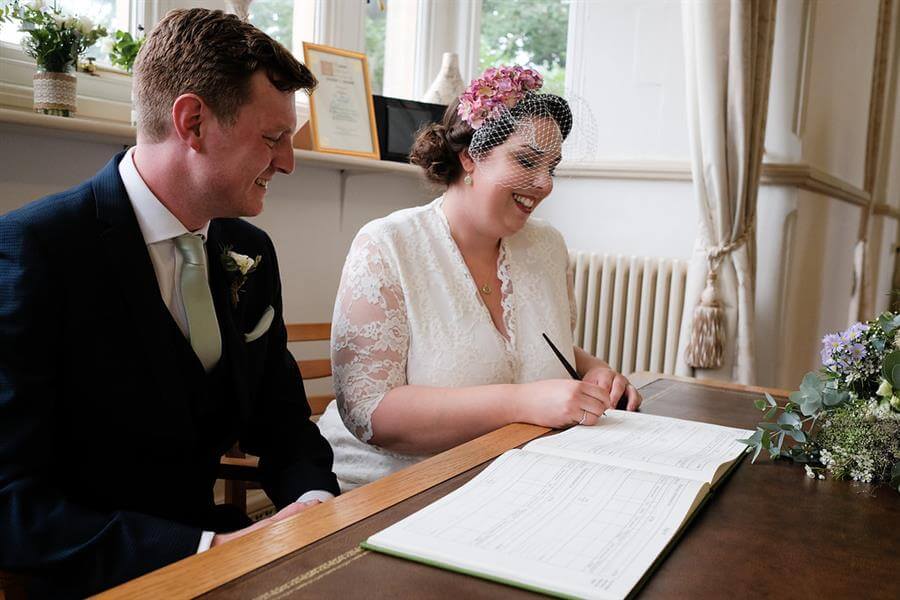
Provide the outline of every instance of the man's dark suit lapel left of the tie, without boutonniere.
[[[119,177],[118,165],[123,155],[113,158],[92,180],[97,219],[102,227],[100,243],[111,278],[118,283],[120,297],[132,316],[131,323],[121,332],[123,346],[145,354],[144,364],[159,388],[160,402],[173,411],[169,414],[173,417],[181,414],[189,419],[189,407],[178,401],[182,394],[171,393],[181,383],[177,379],[179,369],[173,352],[177,327],[169,326],[174,325],[174,320],[162,301],[150,254]],[[136,383],[144,382],[138,379]],[[189,421],[173,418],[172,424],[177,423],[187,425]]]

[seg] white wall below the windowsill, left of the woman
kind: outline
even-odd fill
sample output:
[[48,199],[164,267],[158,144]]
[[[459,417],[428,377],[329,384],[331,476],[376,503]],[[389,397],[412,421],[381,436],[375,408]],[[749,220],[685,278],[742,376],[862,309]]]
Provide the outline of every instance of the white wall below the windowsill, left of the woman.
[[[120,149],[0,126],[0,214],[93,176]],[[341,218],[338,178],[335,170],[297,163],[291,175],[272,180],[263,213],[250,219],[275,243],[289,321],[330,321],[341,267],[356,231],[371,219],[433,196],[412,177],[355,175],[347,181]]]

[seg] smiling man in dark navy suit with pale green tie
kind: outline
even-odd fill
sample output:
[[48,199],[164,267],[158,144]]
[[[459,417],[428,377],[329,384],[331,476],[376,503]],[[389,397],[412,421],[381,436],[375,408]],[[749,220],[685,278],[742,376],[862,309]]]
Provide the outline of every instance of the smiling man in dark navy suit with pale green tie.
[[338,493],[275,249],[237,218],[293,170],[294,92],[315,84],[253,26],[171,12],[135,66],[137,145],[0,217],[0,569],[33,595],[98,592],[245,533],[213,503],[235,442],[276,519]]

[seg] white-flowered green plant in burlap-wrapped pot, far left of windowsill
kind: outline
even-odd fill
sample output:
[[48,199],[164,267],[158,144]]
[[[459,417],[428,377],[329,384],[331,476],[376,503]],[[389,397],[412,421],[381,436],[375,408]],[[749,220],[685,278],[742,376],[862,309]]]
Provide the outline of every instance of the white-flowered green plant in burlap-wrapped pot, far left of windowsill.
[[75,113],[78,57],[106,35],[106,28],[87,17],[70,16],[54,2],[10,2],[0,19],[18,21],[26,34],[22,49],[37,65],[34,74],[35,112],[71,116]]

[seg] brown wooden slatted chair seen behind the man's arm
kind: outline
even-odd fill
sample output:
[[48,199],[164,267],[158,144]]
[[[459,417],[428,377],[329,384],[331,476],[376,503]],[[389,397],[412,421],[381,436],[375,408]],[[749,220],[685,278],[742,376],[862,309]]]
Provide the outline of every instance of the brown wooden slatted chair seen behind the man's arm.
[[[288,343],[321,342],[331,339],[331,323],[293,323],[287,326]],[[298,360],[303,381],[331,377],[331,358]],[[332,394],[307,396],[311,418],[315,421],[334,398]],[[259,489],[258,459],[247,456],[235,446],[222,457],[219,476],[225,480],[225,504],[247,512],[247,490]]]

